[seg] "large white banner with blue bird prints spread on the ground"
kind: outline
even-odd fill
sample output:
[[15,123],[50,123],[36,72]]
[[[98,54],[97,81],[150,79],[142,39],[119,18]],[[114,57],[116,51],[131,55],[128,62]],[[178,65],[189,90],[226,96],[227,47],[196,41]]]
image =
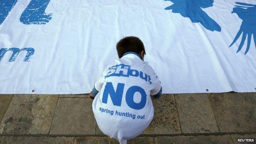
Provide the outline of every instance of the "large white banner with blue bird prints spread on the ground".
[[0,0],[0,94],[89,93],[139,37],[163,93],[255,92],[255,0]]

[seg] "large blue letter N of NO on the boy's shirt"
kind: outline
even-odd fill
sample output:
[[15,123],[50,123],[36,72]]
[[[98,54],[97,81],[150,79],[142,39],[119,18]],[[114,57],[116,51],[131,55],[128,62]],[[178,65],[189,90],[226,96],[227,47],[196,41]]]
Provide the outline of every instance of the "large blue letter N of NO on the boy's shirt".
[[118,83],[117,90],[115,91],[112,82],[107,82],[103,92],[102,103],[107,103],[108,95],[110,95],[113,105],[121,106],[123,98],[123,88],[124,84]]

